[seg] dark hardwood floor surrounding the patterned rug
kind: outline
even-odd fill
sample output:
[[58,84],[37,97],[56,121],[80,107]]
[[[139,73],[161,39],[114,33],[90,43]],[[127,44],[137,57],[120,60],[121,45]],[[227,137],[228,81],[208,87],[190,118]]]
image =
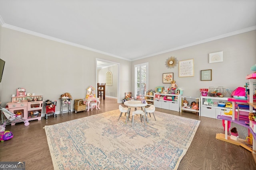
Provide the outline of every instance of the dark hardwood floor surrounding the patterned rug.
[[[57,107],[59,106],[57,103]],[[101,99],[100,110],[64,113],[56,118],[50,116],[47,120],[42,117],[41,121],[30,121],[29,126],[24,123],[7,125],[6,130],[12,131],[14,137],[0,142],[0,161],[25,161],[26,170],[52,170],[52,158],[43,129],[45,125],[104,113],[118,109],[118,106],[116,99],[106,97],[106,100]],[[158,108],[156,111],[201,121],[186,155],[180,162],[179,170],[256,170],[256,163],[250,151],[215,138],[216,133],[224,133],[221,120],[200,117],[191,112],[180,113]],[[232,127],[238,129],[240,138],[246,138],[248,131],[245,127],[231,123]]]

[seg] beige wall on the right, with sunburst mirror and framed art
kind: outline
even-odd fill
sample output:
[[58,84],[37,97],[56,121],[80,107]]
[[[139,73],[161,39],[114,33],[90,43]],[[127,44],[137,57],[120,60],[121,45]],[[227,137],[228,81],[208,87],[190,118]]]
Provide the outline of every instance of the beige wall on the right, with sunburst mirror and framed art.
[[[256,64],[255,47],[256,31],[250,31],[133,61],[132,66],[149,63],[149,89],[155,89],[157,86],[170,86],[170,84],[162,83],[162,74],[173,72],[178,87],[184,90],[184,96],[200,96],[200,88],[223,86],[234,90],[238,86],[243,87],[245,82],[248,82],[245,79],[246,75],[252,73],[250,67]],[[219,51],[223,51],[224,61],[209,63],[209,53]],[[178,64],[174,68],[167,68],[165,62],[171,56],[176,57],[178,61],[194,59],[194,76],[179,77]],[[201,70],[208,69],[212,69],[212,81],[200,81]],[[134,89],[133,75],[134,68],[132,68],[132,89]]]

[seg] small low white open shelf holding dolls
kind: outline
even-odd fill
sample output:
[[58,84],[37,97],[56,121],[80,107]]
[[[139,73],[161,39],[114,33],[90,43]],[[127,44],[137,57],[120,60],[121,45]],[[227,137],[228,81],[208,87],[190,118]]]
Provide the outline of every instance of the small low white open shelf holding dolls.
[[[188,101],[188,107],[184,107],[183,103],[184,100]],[[198,109],[192,109],[190,107],[192,102],[198,103]],[[197,115],[200,115],[201,108],[200,108],[200,97],[191,97],[191,96],[181,96],[180,97],[180,112],[182,111],[192,111],[196,113]]]

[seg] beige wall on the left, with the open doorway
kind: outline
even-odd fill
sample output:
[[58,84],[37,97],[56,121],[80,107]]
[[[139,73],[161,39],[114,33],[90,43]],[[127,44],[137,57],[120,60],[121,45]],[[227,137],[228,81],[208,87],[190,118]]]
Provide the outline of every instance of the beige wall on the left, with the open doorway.
[[65,92],[69,92],[73,99],[84,98],[88,86],[96,87],[96,58],[120,63],[123,68],[119,71],[119,102],[131,89],[130,61],[5,27],[2,27],[1,35],[1,58],[6,61],[1,83],[2,106],[11,102],[10,96],[16,94],[19,87],[28,93],[43,95],[44,100],[58,100]]

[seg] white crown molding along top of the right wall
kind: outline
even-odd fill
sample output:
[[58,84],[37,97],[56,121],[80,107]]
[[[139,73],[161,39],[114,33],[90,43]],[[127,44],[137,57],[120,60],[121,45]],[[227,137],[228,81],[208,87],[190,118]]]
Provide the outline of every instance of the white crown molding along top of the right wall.
[[136,60],[139,60],[139,59],[144,59],[144,58],[152,57],[152,56],[155,56],[155,55],[160,55],[160,54],[163,54],[163,53],[168,53],[168,52],[175,51],[175,50],[178,50],[178,49],[184,49],[186,47],[191,47],[193,45],[207,43],[207,42],[214,41],[214,40],[217,40],[217,39],[222,39],[222,38],[230,37],[232,35],[238,35],[238,34],[249,32],[249,31],[253,31],[253,30],[256,30],[256,26],[248,27],[248,28],[245,28],[245,29],[241,29],[241,30],[234,31],[234,32],[231,32],[231,33],[227,33],[227,34],[223,34],[223,35],[219,35],[219,36],[212,37],[212,38],[209,38],[209,39],[204,39],[202,41],[197,41],[195,43],[191,43],[191,44],[187,44],[187,45],[182,45],[180,47],[176,47],[176,48],[173,48],[173,49],[168,49],[168,50],[161,51],[161,52],[158,52],[158,53],[154,53],[154,54],[151,54],[151,55],[146,55],[144,57],[139,57],[139,58],[133,59],[132,61],[136,61]]

